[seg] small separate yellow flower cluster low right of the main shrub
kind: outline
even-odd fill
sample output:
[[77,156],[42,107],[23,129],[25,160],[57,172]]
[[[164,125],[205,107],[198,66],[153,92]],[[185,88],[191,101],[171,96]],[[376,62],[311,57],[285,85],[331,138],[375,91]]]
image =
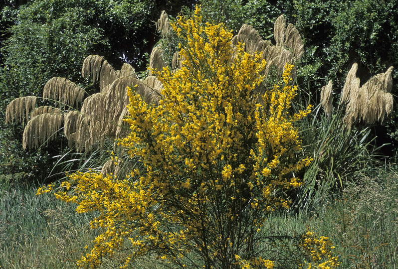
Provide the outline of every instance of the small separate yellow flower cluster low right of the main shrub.
[[336,269],[339,267],[337,256],[334,256],[332,252],[335,247],[328,237],[317,236],[314,232],[310,231],[302,237],[303,242],[301,246],[312,261],[305,261],[304,264],[300,264],[300,269],[303,269],[303,266],[305,266],[306,269]]

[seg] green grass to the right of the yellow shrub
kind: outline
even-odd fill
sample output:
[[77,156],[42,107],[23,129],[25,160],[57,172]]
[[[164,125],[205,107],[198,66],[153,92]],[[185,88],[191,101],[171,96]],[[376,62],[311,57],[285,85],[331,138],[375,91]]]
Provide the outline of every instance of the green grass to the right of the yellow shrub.
[[311,212],[285,216],[286,229],[304,227],[329,237],[342,269],[396,269],[398,265],[398,175],[363,177]]

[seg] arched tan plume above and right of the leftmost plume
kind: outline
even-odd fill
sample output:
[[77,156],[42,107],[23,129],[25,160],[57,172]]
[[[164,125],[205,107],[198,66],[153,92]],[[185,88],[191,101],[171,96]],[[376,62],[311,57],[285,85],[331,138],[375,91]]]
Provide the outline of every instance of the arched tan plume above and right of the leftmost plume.
[[53,77],[44,85],[43,98],[52,98],[70,106],[83,101],[85,91],[68,79]]

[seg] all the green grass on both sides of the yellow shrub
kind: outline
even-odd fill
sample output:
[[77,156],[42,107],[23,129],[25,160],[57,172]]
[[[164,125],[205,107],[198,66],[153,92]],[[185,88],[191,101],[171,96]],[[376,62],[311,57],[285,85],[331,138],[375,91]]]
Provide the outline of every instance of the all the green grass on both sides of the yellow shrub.
[[[76,268],[75,261],[99,231],[89,228],[89,214],[77,214],[73,205],[52,195],[36,196],[35,192],[32,186],[1,182],[0,268]],[[328,236],[336,246],[342,269],[395,269],[398,175],[380,172],[372,179],[364,177],[310,212],[276,214],[268,222],[264,229],[272,231],[270,235],[294,236],[308,229]],[[289,239],[281,240],[280,247],[274,257],[283,264],[291,249]],[[292,258],[299,254],[290,255]],[[117,253],[115,259],[104,260],[101,268],[115,268],[124,257]],[[132,263],[131,268],[167,266],[148,256]]]

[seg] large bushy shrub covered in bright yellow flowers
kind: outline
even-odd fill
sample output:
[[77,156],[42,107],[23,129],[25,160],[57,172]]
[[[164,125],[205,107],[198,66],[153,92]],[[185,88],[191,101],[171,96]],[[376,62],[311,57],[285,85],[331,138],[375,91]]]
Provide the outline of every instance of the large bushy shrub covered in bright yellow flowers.
[[272,269],[257,247],[261,227],[302,184],[295,174],[312,159],[298,154],[295,122],[311,107],[291,114],[289,64],[280,82],[259,91],[261,55],[232,47],[231,32],[202,23],[198,7],[173,28],[187,43],[182,68],[158,73],[159,104],[129,90],[131,133],[119,143],[141,169],[126,178],[76,173],[56,192],[78,212],[99,212],[91,226],[104,232],[78,265],[96,267],[127,248],[121,268],[153,254],[182,268]]

